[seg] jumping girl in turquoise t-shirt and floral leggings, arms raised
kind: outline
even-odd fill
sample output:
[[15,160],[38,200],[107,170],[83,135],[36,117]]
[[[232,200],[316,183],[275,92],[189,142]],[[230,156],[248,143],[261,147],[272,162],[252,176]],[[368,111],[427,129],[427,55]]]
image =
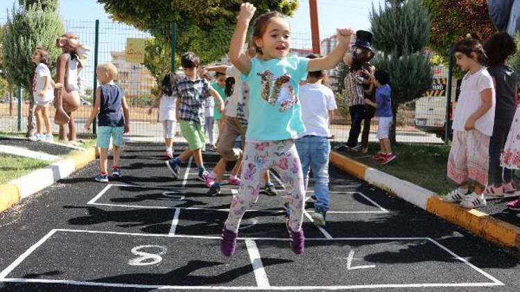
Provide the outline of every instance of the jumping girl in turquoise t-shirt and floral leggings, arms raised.
[[231,202],[220,244],[225,256],[234,254],[240,221],[257,201],[263,185],[262,174],[274,168],[286,184],[291,216],[286,228],[295,254],[303,253],[302,220],[305,202],[302,165],[294,139],[305,131],[298,101],[299,82],[307,72],[332,69],[347,53],[354,33],[338,30],[338,47],[327,57],[307,59],[287,57],[291,28],[284,15],[272,11],[257,17],[251,42],[257,51],[252,59],[243,51],[248,26],[256,8],[243,3],[229,47],[229,59],[241,71],[250,88],[249,124],[245,133],[242,181],[239,194]]

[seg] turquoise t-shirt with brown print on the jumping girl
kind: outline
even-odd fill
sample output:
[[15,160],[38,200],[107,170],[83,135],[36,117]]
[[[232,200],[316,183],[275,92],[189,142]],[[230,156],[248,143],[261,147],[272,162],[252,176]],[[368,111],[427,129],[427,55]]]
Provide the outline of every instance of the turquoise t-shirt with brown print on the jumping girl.
[[242,75],[250,88],[246,139],[286,140],[305,131],[297,97],[308,70],[309,59],[304,57],[252,58],[250,72]]

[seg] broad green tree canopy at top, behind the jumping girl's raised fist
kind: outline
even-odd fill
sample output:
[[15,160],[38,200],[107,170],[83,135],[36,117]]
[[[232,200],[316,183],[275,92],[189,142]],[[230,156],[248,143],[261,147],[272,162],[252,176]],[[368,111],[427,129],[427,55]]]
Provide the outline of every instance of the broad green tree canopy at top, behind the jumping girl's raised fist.
[[[295,0],[251,0],[257,15],[278,10],[292,15],[297,8]],[[242,0],[98,0],[112,19],[168,42],[170,24],[177,22],[178,52],[193,51],[201,62],[208,63],[223,57],[229,49],[236,16]]]

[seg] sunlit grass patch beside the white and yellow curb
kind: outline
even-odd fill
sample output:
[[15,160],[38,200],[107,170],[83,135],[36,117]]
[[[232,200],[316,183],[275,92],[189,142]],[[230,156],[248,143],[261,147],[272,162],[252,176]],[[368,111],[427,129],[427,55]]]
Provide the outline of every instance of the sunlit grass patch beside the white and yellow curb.
[[0,154],[0,183],[7,183],[46,165],[49,165],[48,161]]

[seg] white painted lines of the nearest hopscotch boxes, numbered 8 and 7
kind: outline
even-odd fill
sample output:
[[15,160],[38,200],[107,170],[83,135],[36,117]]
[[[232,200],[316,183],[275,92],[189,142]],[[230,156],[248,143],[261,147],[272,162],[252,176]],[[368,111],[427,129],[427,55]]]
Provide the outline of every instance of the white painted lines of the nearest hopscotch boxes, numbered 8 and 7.
[[[220,237],[207,237],[207,236],[187,236],[187,235],[155,235],[155,234],[140,234],[140,233],[128,233],[128,232],[110,232],[110,231],[93,231],[93,230],[69,230],[69,229],[53,229],[47,235],[42,237],[40,241],[28,248],[22,255],[20,255],[12,264],[0,272],[0,282],[26,282],[26,283],[53,283],[53,284],[72,284],[80,286],[104,286],[114,288],[136,288],[136,289],[184,289],[184,290],[341,290],[341,289],[383,289],[383,288],[414,288],[414,287],[480,287],[480,286],[503,286],[503,283],[497,280],[492,275],[489,275],[480,268],[477,268],[473,264],[467,262],[466,259],[456,255],[453,251],[449,250],[442,244],[438,243],[430,237],[343,237],[335,239],[306,239],[308,241],[426,241],[431,244],[435,244],[441,250],[448,253],[454,260],[461,262],[469,266],[480,276],[485,277],[491,282],[460,282],[460,283],[403,283],[403,284],[363,284],[363,285],[337,285],[337,286],[271,286],[268,280],[268,273],[266,273],[263,263],[261,262],[261,255],[259,248],[255,241],[287,241],[288,239],[273,239],[273,238],[239,238],[239,241],[245,241],[245,245],[248,250],[250,264],[254,271],[254,278],[257,282],[257,286],[173,286],[173,285],[160,285],[160,284],[128,284],[128,283],[114,283],[114,282],[91,282],[91,281],[78,281],[78,280],[53,280],[53,279],[27,279],[19,277],[8,277],[17,266],[19,266],[24,260],[31,256],[32,253],[37,250],[42,244],[53,237],[57,232],[72,232],[72,233],[88,233],[88,234],[103,234],[103,235],[114,235],[114,236],[132,236],[132,237],[177,237],[177,238],[193,238],[193,239],[213,239],[218,240]],[[166,252],[166,250],[164,250]],[[372,268],[372,266],[361,266],[361,268]],[[469,276],[468,276],[469,277]],[[471,276],[474,278],[474,276]]]

